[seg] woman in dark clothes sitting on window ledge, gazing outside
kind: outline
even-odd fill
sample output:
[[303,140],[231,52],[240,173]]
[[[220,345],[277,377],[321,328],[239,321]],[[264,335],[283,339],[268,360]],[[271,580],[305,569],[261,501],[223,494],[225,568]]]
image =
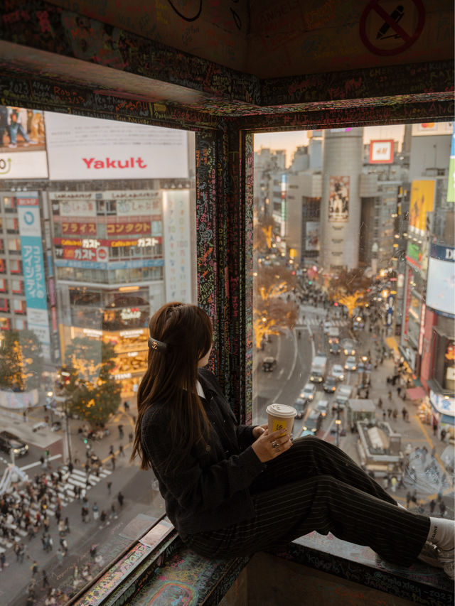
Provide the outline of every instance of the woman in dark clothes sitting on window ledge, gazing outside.
[[166,303],[149,322],[132,459],[152,467],[166,513],[194,551],[249,555],[318,531],[410,566],[426,545],[453,578],[454,523],[397,507],[342,450],[267,426],[236,425],[207,369],[213,331],[196,305]]

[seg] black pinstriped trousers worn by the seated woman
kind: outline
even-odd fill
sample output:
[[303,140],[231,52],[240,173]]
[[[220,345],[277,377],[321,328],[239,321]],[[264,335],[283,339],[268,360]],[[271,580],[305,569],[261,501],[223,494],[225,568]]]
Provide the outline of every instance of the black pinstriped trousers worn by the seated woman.
[[191,534],[185,543],[203,556],[247,556],[311,531],[372,548],[410,566],[429,533],[429,518],[397,506],[343,450],[306,436],[267,462],[250,487],[255,517]]

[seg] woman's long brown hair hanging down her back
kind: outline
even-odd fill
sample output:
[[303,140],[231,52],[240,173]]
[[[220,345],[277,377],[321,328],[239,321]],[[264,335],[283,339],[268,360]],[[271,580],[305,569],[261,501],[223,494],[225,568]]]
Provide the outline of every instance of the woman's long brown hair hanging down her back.
[[[156,403],[172,406],[172,443],[168,465],[188,455],[193,444],[208,437],[209,425],[197,394],[198,361],[212,345],[210,318],[197,305],[173,301],[163,305],[149,321],[150,336],[165,347],[149,348],[148,368],[137,394],[137,422],[131,459],[141,458],[141,469],[151,466],[141,445],[144,413]],[[166,467],[168,467],[166,465]]]

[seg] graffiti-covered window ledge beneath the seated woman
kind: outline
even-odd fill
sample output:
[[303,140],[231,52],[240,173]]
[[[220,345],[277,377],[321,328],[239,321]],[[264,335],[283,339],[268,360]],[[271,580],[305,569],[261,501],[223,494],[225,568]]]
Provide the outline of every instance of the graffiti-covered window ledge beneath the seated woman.
[[[392,597],[395,596],[395,597]],[[70,601],[79,606],[445,606],[453,584],[442,570],[382,561],[368,547],[311,533],[270,553],[231,560],[204,558],[176,531],[150,548],[136,543],[90,588]]]

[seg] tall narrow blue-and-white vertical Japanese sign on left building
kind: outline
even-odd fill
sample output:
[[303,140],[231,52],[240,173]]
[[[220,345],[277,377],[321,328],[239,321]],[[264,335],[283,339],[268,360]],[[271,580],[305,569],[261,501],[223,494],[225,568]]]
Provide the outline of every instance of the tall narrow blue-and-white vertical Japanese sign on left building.
[[38,194],[34,192],[18,194],[17,209],[27,303],[27,325],[28,329],[33,330],[41,341],[44,355],[50,357],[48,305]]

